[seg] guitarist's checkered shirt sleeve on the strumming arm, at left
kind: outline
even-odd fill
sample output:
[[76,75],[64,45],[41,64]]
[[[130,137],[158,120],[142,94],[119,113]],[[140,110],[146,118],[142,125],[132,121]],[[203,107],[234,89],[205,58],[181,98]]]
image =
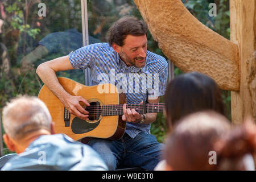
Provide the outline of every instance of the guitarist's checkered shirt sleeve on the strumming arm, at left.
[[69,61],[74,69],[85,69],[90,67],[95,60],[98,44],[90,44],[69,53]]

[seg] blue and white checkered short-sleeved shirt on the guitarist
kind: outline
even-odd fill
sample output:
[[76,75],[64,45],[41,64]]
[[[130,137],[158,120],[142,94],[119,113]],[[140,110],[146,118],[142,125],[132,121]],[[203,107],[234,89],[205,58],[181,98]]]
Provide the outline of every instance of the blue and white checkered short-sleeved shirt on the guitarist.
[[[143,68],[127,65],[108,43],[90,44],[69,53],[74,69],[90,68],[92,85],[112,83],[126,93],[127,104],[139,104],[147,97],[163,96],[168,77],[164,57],[147,51]],[[149,133],[150,124],[126,123],[125,132],[131,138],[140,132]]]

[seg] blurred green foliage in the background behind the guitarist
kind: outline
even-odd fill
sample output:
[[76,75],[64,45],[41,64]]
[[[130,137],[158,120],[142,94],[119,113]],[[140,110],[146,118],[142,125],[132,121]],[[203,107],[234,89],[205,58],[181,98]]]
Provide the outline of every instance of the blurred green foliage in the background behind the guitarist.
[[[0,0],[0,19],[4,21],[0,42],[6,47],[7,60],[10,69],[4,69],[3,58],[0,59],[0,111],[11,98],[19,94],[36,96],[42,86],[42,81],[36,75],[36,67],[45,61],[67,55],[74,51],[82,42],[82,21],[80,0],[51,0],[46,1],[46,17],[38,16],[40,0]],[[137,16],[142,19],[133,0],[97,0],[88,2],[88,28],[90,39],[94,42],[106,42],[106,32],[118,18],[125,15]],[[227,0],[182,0],[185,7],[205,26],[229,39],[229,1]],[[208,15],[209,3],[216,3],[217,16]],[[67,30],[77,31],[77,40],[67,39]],[[52,34],[58,32],[58,34]],[[56,36],[57,35],[57,36]],[[69,35],[69,34],[68,34]],[[62,41],[54,38],[61,38]],[[27,61],[27,67],[22,67],[22,61],[28,60],[41,42],[50,40],[52,50],[42,57]],[[166,57],[158,47],[158,43],[147,34],[148,50]],[[44,40],[44,41],[43,41]],[[64,41],[65,40],[65,41]],[[91,43],[93,43],[91,41]],[[69,47],[69,48],[68,48]],[[71,48],[70,48],[71,47]],[[77,47],[79,48],[79,47]],[[3,54],[3,51],[1,51]],[[28,56],[30,55],[30,56]],[[36,54],[32,54],[36,57]],[[166,57],[167,59],[167,57]],[[175,76],[182,72],[174,69]],[[61,72],[58,76],[70,77],[84,82],[82,71]],[[226,107],[226,115],[230,118],[230,92],[222,91],[222,98]],[[163,102],[163,97],[160,98]],[[164,115],[158,117],[151,125],[151,134],[159,142],[163,142],[167,132]],[[5,146],[6,148],[6,146]],[[5,150],[5,153],[10,151]]]

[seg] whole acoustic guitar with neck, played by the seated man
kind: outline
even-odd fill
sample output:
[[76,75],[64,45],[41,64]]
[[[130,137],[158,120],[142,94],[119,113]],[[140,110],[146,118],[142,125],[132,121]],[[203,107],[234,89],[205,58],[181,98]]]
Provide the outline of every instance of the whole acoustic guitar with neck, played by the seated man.
[[[38,94],[51,113],[55,122],[56,133],[64,133],[74,140],[101,138],[117,140],[125,132],[126,122],[122,121],[123,104],[126,95],[120,93],[113,84],[85,86],[69,78],[58,77],[63,88],[73,96],[82,96],[90,104],[85,106],[89,112],[89,121],[84,121],[70,114],[46,85],[43,85]],[[164,104],[129,104],[127,108],[134,108],[140,114],[160,113]]]

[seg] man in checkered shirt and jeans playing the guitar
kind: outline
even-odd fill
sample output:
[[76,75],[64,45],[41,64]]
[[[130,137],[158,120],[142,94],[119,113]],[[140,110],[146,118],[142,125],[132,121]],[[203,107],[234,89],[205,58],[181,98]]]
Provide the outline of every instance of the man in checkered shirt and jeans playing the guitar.
[[[40,64],[36,73],[69,113],[84,120],[89,113],[79,102],[85,106],[89,106],[89,102],[67,93],[55,72],[90,68],[92,85],[111,82],[126,93],[127,104],[158,103],[166,89],[168,64],[164,57],[147,51],[146,33],[147,25],[142,20],[123,17],[109,29],[108,43],[91,44],[68,56]],[[124,104],[122,120],[126,122],[126,130],[123,137],[115,141],[93,139],[88,144],[102,156],[110,170],[117,167],[152,170],[159,162],[163,147],[150,134],[150,123],[155,119],[156,113],[139,114]]]

